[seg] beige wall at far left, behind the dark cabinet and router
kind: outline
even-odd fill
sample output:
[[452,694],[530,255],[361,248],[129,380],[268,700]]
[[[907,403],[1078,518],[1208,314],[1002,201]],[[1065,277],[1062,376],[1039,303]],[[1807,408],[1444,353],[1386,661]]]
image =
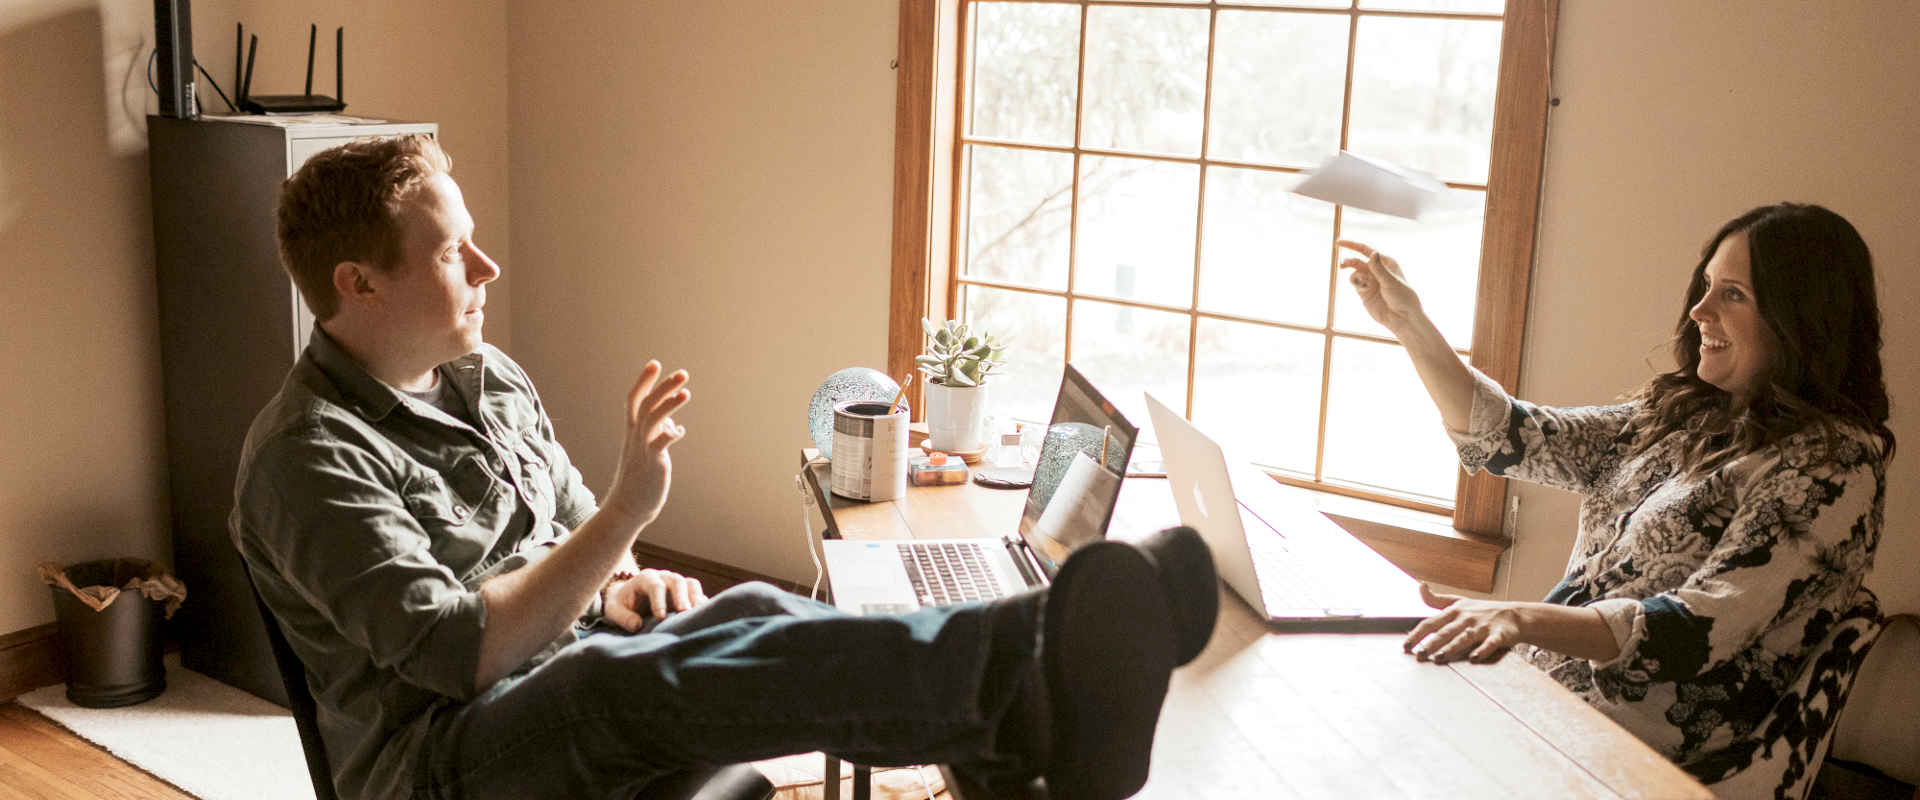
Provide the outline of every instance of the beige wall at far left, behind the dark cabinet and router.
[[[442,125],[480,240],[507,255],[503,0],[194,4],[198,59],[232,92],[298,92],[305,25],[348,27],[349,111]],[[148,0],[0,6],[0,633],[54,620],[38,560],[171,560],[142,71]],[[332,92],[330,40],[315,90]],[[202,86],[207,109],[221,109]],[[261,265],[261,269],[276,269]],[[495,292],[495,309],[507,292]],[[505,341],[511,315],[490,315]],[[238,447],[238,443],[234,443]],[[192,587],[188,587],[192,591]]]

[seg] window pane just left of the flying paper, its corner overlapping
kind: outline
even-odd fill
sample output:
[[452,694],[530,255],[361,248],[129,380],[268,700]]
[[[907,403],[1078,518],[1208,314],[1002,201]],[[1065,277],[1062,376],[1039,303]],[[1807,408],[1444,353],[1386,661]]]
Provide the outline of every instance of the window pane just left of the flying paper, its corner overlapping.
[[1208,169],[1200,309],[1327,324],[1332,205],[1288,192],[1298,182],[1288,173]]

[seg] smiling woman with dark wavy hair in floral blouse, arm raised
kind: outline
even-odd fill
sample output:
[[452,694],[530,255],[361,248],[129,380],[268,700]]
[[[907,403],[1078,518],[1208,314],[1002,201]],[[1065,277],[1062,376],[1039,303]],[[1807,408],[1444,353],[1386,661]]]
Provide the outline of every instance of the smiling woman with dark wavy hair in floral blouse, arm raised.
[[1507,395],[1453,355],[1394,259],[1342,246],[1363,255],[1342,267],[1405,343],[1461,466],[1584,495],[1546,602],[1423,587],[1442,610],[1407,652],[1517,648],[1693,777],[1740,775],[1772,719],[1799,719],[1807,700],[1788,689],[1880,543],[1893,432],[1860,234],[1799,203],[1726,223],[1688,280],[1678,368],[1580,409]]

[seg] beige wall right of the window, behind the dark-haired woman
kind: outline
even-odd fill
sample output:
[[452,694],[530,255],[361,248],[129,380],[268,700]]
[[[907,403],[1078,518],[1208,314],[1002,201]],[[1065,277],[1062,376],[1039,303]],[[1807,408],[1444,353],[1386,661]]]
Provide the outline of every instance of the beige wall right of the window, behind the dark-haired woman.
[[[1920,610],[1920,4],[1565,0],[1521,395],[1599,403],[1667,368],[1686,271],[1734,215],[1845,215],[1880,274],[1901,439],[1874,587]],[[1511,597],[1561,576],[1572,495],[1521,487]]]

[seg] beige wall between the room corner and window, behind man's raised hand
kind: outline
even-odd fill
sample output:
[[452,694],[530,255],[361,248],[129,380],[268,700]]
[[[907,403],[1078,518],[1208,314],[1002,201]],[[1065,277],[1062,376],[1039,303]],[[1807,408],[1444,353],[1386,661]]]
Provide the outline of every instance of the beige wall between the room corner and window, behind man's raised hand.
[[885,366],[897,4],[511,6],[515,357],[595,491],[645,359],[693,372],[649,541],[812,579],[804,407]]

